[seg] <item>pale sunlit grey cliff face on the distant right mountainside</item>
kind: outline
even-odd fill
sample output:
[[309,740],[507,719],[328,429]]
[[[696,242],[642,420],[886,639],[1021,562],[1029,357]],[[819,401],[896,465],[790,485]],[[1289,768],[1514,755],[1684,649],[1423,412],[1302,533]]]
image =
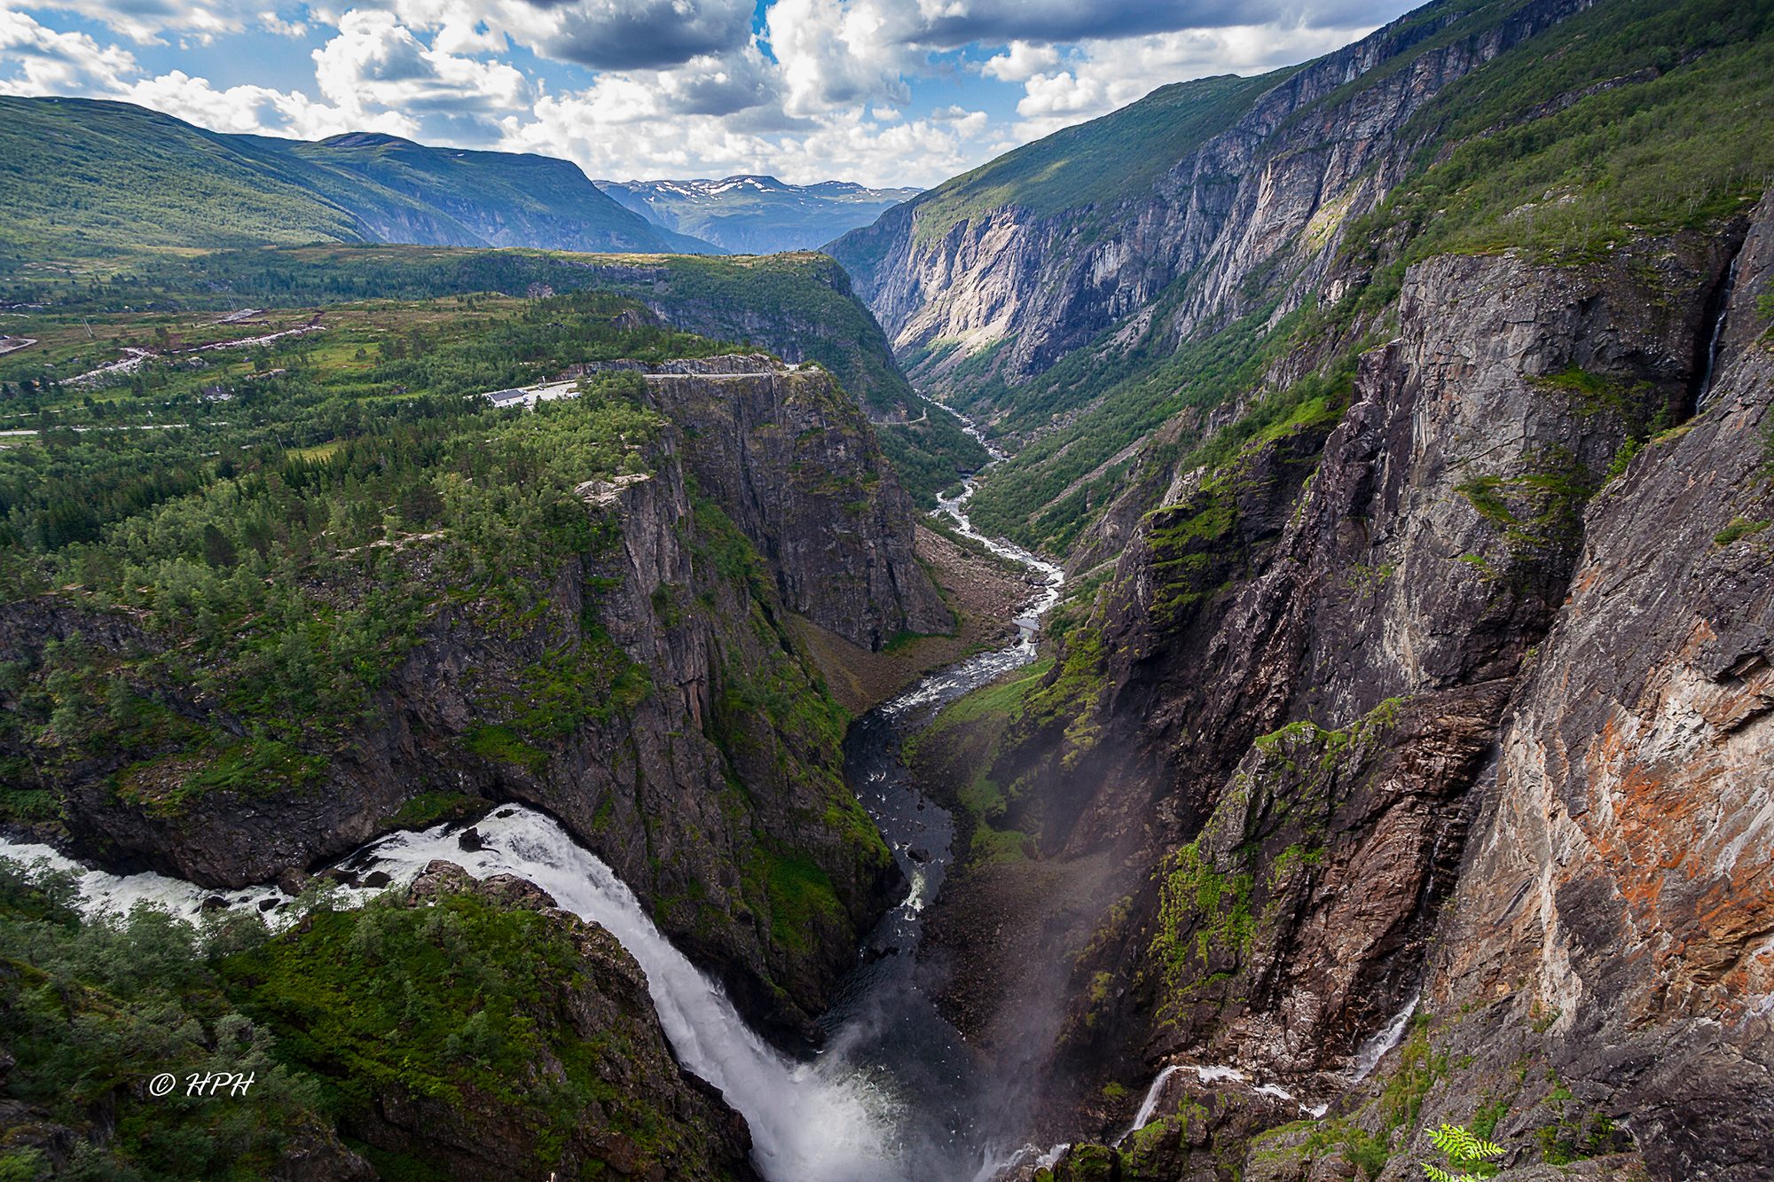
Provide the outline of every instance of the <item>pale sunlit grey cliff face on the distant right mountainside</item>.
[[[1430,5],[1270,76],[1148,188],[1041,213],[1050,202],[1038,192],[1004,195],[990,177],[960,177],[852,231],[832,254],[894,350],[922,359],[912,376],[956,392],[977,382],[988,350],[986,369],[1015,383],[1111,327],[1123,344],[1174,346],[1251,307],[1251,280],[1268,272],[1295,273],[1297,293],[1316,288],[1345,224],[1409,169],[1410,117],[1449,82],[1591,4],[1535,0],[1472,32],[1462,9]],[[1135,105],[1103,122],[1139,117]],[[1190,275],[1187,293],[1173,291]]]

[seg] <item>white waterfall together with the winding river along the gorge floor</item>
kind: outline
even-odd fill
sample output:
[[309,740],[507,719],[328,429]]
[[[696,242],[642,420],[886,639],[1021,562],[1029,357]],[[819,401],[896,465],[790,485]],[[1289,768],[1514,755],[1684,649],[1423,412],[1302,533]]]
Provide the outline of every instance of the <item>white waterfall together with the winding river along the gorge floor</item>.
[[[977,429],[963,415],[956,417],[977,438]],[[995,447],[986,447],[993,463],[1002,458]],[[993,554],[1029,568],[1040,587],[1015,618],[1018,637],[1013,644],[933,673],[852,728],[852,740],[866,742],[846,740],[846,777],[860,772],[852,786],[889,838],[912,891],[875,935],[871,946],[885,955],[866,962],[841,990],[837,1006],[827,1015],[834,1036],[812,1061],[789,1060],[759,1038],[722,987],[653,926],[616,873],[546,815],[502,806],[475,823],[479,850],[461,848],[458,834],[438,825],[371,841],[339,866],[358,882],[385,873],[385,886],[412,882],[433,859],[456,863],[475,877],[509,873],[548,891],[562,909],[607,928],[646,971],[648,992],[678,1060],[715,1084],[745,1116],[752,1157],[768,1182],[937,1182],[969,1177],[976,1168],[976,1177],[992,1178],[1009,1164],[1052,1164],[1066,1147],[1041,1150],[1031,1145],[1002,1155],[1004,1141],[997,1138],[1009,1131],[993,1118],[1002,1111],[1004,1081],[969,1076],[974,1070],[970,1049],[922,996],[914,973],[921,912],[940,891],[949,863],[949,820],[905,781],[899,737],[928,721],[940,705],[1034,660],[1040,618],[1059,602],[1064,580],[1056,563],[972,527],[967,500],[974,488],[976,481],[969,479],[937,513]],[[852,767],[855,747],[867,756],[864,765]],[[926,848],[930,857],[912,859],[912,847]],[[137,903],[153,903],[197,921],[220,898],[227,907],[264,914],[273,928],[298,918],[298,907],[275,886],[208,891],[154,873],[110,875],[87,870],[50,847],[4,838],[0,859],[48,863],[51,870],[75,873],[87,914],[126,914]],[[374,894],[369,887],[341,887],[335,905],[357,905]],[[1157,1090],[1150,1104],[1157,1104]]]

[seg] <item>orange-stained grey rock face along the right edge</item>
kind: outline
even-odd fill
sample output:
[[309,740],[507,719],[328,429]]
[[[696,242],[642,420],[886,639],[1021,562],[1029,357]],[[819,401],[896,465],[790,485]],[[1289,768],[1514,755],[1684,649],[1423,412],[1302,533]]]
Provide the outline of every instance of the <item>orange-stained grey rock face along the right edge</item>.
[[1590,506],[1430,976],[1547,1015],[1554,1068],[1669,1178],[1763,1177],[1774,1145],[1770,215],[1708,410]]

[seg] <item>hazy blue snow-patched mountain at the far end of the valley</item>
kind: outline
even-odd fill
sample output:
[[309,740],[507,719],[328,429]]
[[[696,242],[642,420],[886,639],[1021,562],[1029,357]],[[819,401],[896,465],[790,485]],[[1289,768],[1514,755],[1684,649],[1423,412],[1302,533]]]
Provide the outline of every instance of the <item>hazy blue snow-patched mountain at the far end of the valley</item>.
[[773,176],[596,185],[663,229],[695,234],[742,254],[821,247],[922,192],[866,188],[850,181],[786,185]]

